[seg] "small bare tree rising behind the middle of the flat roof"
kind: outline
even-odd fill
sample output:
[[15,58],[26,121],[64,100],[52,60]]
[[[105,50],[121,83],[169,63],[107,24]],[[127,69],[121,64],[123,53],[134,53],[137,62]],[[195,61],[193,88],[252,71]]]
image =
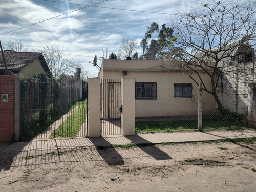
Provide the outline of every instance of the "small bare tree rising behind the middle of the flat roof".
[[138,49],[138,43],[135,40],[129,38],[123,38],[120,42],[118,51],[124,57],[132,57],[133,52]]

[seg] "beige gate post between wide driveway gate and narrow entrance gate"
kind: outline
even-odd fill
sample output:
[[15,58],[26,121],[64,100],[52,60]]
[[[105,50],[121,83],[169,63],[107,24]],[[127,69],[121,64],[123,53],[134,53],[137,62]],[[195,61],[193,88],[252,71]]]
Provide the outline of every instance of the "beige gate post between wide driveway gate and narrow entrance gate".
[[88,137],[100,137],[100,81],[88,79]]

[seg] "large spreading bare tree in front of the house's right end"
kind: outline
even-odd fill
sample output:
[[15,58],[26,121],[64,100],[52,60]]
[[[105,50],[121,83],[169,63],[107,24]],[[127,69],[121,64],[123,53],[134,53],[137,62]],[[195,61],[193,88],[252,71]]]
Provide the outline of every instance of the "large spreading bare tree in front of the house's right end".
[[[253,54],[251,46],[255,45],[255,2],[197,2],[189,10],[190,13],[180,14],[180,18],[172,23],[177,37],[176,47],[182,48],[179,58],[185,65],[182,63],[181,67],[190,69],[188,77],[197,84],[202,82],[203,90],[214,96],[218,108],[222,110],[216,89],[224,67],[230,61],[238,64],[249,61]],[[210,88],[206,87],[198,69],[210,78]],[[196,80],[193,74],[200,80]]]

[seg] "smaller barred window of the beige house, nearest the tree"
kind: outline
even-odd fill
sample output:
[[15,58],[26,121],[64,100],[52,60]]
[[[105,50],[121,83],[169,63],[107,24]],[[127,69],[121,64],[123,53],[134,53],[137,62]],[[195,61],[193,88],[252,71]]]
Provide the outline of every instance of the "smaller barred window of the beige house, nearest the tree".
[[192,84],[174,83],[174,98],[191,98]]

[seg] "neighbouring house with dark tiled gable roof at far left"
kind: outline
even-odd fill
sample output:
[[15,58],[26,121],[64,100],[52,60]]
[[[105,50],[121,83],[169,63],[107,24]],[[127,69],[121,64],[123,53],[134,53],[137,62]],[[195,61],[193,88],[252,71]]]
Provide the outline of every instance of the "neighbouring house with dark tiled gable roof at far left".
[[[7,69],[14,74],[30,76],[38,73],[49,72],[50,69],[42,53],[16,52],[5,50],[4,56]],[[5,65],[2,54],[0,54],[0,75],[5,74]]]

